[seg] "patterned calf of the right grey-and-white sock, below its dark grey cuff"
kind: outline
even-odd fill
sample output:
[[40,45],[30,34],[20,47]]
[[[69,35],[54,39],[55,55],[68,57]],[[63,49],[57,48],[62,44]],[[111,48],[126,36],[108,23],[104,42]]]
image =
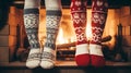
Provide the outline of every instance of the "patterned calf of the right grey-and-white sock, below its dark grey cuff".
[[47,16],[47,39],[45,47],[55,49],[56,48],[56,38],[59,28],[59,22],[61,16]]

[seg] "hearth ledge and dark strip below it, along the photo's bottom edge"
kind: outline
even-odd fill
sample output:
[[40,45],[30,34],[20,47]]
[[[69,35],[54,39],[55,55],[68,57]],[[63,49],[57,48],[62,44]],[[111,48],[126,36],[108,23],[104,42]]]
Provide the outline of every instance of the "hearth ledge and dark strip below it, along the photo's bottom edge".
[[131,73],[131,62],[107,61],[104,68],[80,68],[74,61],[57,61],[56,66],[45,70],[40,66],[28,69],[25,62],[0,62],[0,73]]

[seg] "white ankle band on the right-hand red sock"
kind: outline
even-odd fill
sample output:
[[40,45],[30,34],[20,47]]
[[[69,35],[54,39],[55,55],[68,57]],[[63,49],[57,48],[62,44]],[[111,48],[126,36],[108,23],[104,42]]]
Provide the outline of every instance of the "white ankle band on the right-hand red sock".
[[90,54],[104,56],[102,51],[102,46],[90,45]]

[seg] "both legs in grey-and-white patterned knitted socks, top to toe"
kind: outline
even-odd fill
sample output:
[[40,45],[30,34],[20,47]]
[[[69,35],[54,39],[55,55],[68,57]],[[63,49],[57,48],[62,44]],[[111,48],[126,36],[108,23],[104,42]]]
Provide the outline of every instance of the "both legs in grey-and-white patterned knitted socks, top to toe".
[[56,38],[62,15],[61,1],[45,0],[46,41],[43,51],[40,51],[38,40],[39,7],[40,0],[25,0],[24,25],[31,45],[26,66],[29,69],[34,69],[37,66],[41,66],[44,69],[51,69],[55,65]]

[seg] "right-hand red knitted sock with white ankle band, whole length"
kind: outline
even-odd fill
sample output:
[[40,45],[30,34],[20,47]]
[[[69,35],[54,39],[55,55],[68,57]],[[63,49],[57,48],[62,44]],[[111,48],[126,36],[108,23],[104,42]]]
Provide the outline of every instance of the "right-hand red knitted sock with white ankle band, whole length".
[[102,35],[107,19],[107,2],[106,0],[92,0],[92,34],[93,37],[90,42],[90,54],[92,65],[104,66],[105,59],[102,52]]

